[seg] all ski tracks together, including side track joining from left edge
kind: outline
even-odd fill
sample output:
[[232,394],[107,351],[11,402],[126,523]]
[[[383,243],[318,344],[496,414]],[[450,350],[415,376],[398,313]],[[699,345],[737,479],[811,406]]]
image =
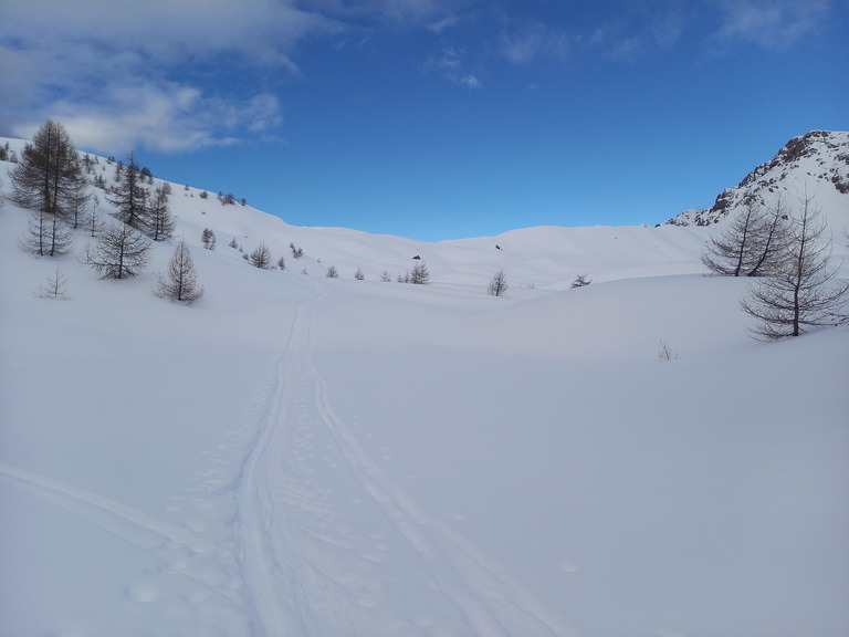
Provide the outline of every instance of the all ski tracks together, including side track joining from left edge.
[[[199,472],[197,497],[191,499],[195,515],[211,514],[214,520],[222,511],[221,499],[232,498],[234,514],[231,523],[224,522],[233,534],[230,540],[227,531],[221,533],[221,520],[218,525],[205,523],[202,518],[189,519],[185,526],[174,524],[4,462],[0,462],[0,480],[147,551],[161,563],[153,574],[155,582],[165,575],[188,577],[206,593],[170,602],[202,605],[208,625],[214,622],[218,630],[229,626],[235,630],[233,635],[244,629],[252,637],[373,630],[430,635],[437,625],[444,635],[570,635],[554,613],[471,541],[430,516],[371,459],[336,415],[329,387],[313,361],[315,315],[323,296],[319,285],[298,303],[269,390],[261,393],[264,398],[258,396],[259,413],[252,418],[256,427],[235,480],[223,481],[222,467],[216,467],[222,460],[217,457],[211,458],[213,466],[208,471]],[[232,431],[234,438],[243,435],[243,427]],[[391,558],[391,542],[380,533],[350,529],[339,521],[350,522],[327,501],[333,489],[322,487],[321,477],[315,476],[316,459],[310,452],[314,436],[324,436],[335,447],[339,462],[354,478],[346,484],[356,489],[350,501],[371,501],[391,522],[418,568],[417,573],[405,570],[405,579],[426,587],[429,599],[441,599],[437,606],[429,608],[426,601],[417,599],[424,614],[410,617],[400,616],[403,610],[391,604],[376,608],[387,579],[379,563],[382,555]],[[336,462],[329,468],[338,470]],[[151,586],[150,581],[150,574],[143,576],[132,588],[130,601],[168,603],[159,598],[157,588],[161,586]],[[440,613],[444,602],[457,609],[453,619]],[[168,608],[172,606],[163,607],[164,612]]]

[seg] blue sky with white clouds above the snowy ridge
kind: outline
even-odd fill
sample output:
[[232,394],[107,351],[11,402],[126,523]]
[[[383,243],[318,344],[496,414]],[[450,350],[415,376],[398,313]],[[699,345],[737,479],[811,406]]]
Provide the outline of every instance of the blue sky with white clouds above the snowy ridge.
[[849,128],[846,0],[0,0],[0,135],[300,226],[654,224]]

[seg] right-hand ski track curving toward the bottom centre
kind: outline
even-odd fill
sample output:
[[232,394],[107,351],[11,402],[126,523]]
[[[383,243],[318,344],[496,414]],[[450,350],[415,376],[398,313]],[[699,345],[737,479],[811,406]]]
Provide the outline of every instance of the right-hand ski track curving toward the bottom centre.
[[[311,307],[313,311],[314,306]],[[573,635],[554,613],[504,574],[501,566],[472,542],[431,518],[368,456],[354,431],[333,409],[327,384],[312,357],[315,342],[313,318],[308,328],[305,372],[315,386],[315,406],[322,420],[331,430],[352,472],[460,608],[474,634],[507,637],[522,627],[532,635]],[[476,592],[476,595],[468,592]]]

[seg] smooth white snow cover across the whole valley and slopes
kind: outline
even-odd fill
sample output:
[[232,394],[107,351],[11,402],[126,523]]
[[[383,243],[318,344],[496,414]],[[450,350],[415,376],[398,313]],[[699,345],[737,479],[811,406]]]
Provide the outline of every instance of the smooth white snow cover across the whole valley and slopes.
[[191,307],[174,243],[99,281],[0,209],[0,635],[846,635],[849,330],[746,336],[724,221],[432,244],[199,195]]

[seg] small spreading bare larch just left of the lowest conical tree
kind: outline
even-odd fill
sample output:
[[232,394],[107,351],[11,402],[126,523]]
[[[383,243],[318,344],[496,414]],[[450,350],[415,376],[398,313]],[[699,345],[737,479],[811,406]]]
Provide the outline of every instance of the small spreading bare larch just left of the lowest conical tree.
[[150,239],[129,226],[113,224],[101,233],[94,247],[85,247],[82,261],[101,279],[128,279],[147,265],[150,246]]

